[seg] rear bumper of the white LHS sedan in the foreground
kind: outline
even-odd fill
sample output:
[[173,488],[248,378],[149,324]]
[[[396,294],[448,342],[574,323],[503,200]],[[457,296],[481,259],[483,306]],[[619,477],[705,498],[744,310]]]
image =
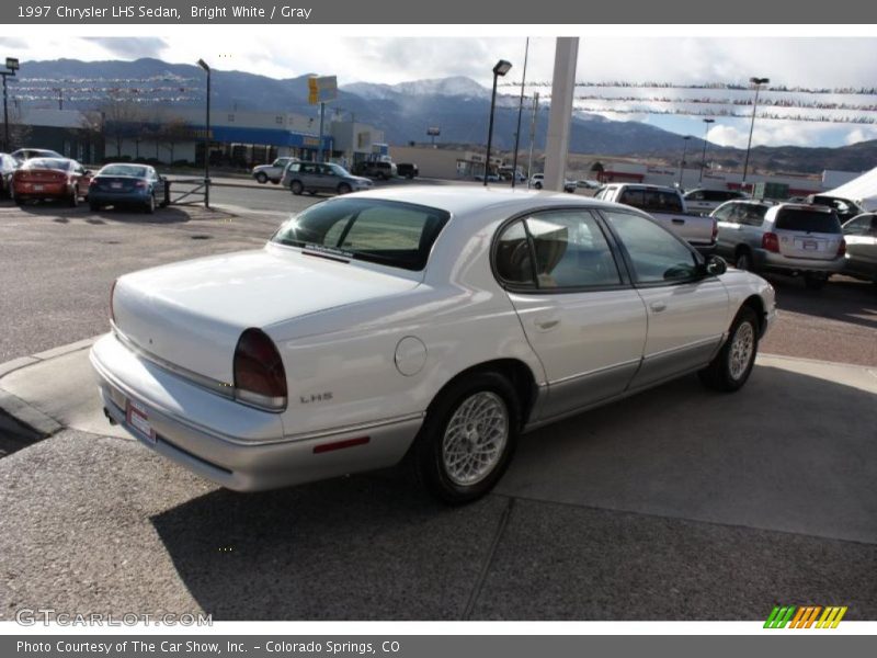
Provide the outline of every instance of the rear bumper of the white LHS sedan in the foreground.
[[[405,455],[422,423],[418,415],[368,427],[285,435],[281,415],[201,388],[138,358],[112,334],[94,344],[91,363],[109,417],[155,452],[238,491],[391,466]],[[155,440],[130,424],[128,400],[146,411]],[[331,449],[366,436],[366,443]]]

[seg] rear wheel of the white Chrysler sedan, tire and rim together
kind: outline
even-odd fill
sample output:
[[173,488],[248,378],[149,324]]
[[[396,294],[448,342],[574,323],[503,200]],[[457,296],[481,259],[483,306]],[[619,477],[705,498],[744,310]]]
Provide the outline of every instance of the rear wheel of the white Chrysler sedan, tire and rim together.
[[490,491],[511,462],[521,410],[494,372],[452,384],[433,401],[414,443],[419,479],[440,500],[460,504]]

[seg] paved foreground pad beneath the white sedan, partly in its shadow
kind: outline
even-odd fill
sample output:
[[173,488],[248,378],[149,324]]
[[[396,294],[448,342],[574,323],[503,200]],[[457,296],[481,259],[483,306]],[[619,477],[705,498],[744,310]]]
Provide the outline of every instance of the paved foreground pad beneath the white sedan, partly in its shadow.
[[86,356],[0,378],[68,428],[0,460],[0,619],[877,619],[872,368],[760,356],[733,396],[683,378],[525,435],[451,509],[401,469],[218,488],[111,431]]

